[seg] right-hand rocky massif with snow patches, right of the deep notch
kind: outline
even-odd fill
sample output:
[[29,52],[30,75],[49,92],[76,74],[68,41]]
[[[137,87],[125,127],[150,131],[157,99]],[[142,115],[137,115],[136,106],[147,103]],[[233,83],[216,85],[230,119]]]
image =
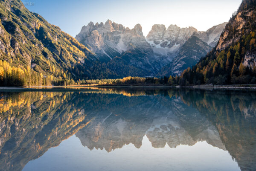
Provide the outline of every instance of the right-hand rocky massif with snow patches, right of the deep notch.
[[[157,75],[180,75],[183,70],[195,65],[217,45],[226,24],[227,22],[213,26],[206,32],[198,31],[194,27],[180,28],[170,25],[166,29],[160,24],[152,26],[146,39],[151,44],[154,54],[169,56],[172,59],[172,62],[161,68]],[[198,40],[195,40],[195,37]]]

